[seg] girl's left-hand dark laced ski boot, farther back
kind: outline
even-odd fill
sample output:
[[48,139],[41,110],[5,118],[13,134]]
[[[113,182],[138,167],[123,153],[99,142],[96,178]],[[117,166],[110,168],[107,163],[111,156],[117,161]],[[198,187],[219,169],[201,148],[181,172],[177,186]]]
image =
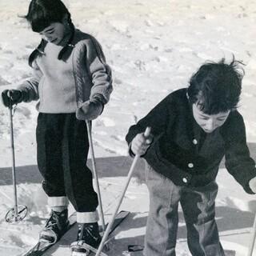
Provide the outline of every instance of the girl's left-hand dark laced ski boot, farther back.
[[53,244],[66,233],[69,226],[67,209],[62,212],[51,210],[46,226],[40,232],[40,240]]

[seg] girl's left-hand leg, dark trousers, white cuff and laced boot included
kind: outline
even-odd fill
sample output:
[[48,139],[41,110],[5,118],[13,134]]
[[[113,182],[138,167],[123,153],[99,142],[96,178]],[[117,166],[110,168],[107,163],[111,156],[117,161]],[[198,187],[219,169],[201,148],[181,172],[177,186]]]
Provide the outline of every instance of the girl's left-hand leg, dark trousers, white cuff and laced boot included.
[[68,200],[66,198],[62,169],[62,115],[38,115],[38,169],[44,181],[42,187],[48,195],[50,218],[40,232],[40,238],[57,242],[68,227]]

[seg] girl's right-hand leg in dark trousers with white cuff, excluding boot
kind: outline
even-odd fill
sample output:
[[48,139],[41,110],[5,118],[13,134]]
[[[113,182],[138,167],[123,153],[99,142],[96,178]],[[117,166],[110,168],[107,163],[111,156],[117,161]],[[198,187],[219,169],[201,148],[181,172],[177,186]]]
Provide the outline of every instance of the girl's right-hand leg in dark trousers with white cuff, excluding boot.
[[62,134],[62,164],[66,195],[78,211],[78,222],[97,222],[98,197],[93,178],[86,166],[89,142],[86,122],[75,114],[65,114]]

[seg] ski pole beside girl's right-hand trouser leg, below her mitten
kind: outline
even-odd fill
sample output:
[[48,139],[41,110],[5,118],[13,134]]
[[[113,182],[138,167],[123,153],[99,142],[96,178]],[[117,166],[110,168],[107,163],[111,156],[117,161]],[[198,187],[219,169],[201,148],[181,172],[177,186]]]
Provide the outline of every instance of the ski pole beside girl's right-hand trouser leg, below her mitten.
[[89,145],[90,145],[90,155],[91,155],[91,163],[93,166],[93,172],[94,172],[94,178],[96,182],[96,190],[98,194],[98,206],[99,206],[99,211],[100,211],[100,218],[102,219],[102,230],[106,230],[106,225],[105,225],[105,220],[104,220],[104,214],[103,214],[103,208],[102,208],[102,197],[101,197],[101,191],[99,188],[98,184],[98,174],[96,170],[96,161],[95,161],[95,156],[94,156],[94,145],[93,145],[93,139],[91,135],[91,126],[90,126],[90,121],[86,120],[86,127],[87,127],[87,134],[89,138]]

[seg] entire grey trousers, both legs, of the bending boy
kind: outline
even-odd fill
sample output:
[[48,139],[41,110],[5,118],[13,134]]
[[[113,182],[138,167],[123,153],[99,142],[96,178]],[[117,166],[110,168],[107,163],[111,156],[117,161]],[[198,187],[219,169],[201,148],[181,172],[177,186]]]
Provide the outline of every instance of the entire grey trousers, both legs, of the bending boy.
[[169,178],[146,165],[150,191],[150,212],[146,225],[145,256],[175,256],[178,230],[178,202],[187,229],[187,242],[193,256],[225,256],[214,220],[218,185],[190,189],[175,186]]

